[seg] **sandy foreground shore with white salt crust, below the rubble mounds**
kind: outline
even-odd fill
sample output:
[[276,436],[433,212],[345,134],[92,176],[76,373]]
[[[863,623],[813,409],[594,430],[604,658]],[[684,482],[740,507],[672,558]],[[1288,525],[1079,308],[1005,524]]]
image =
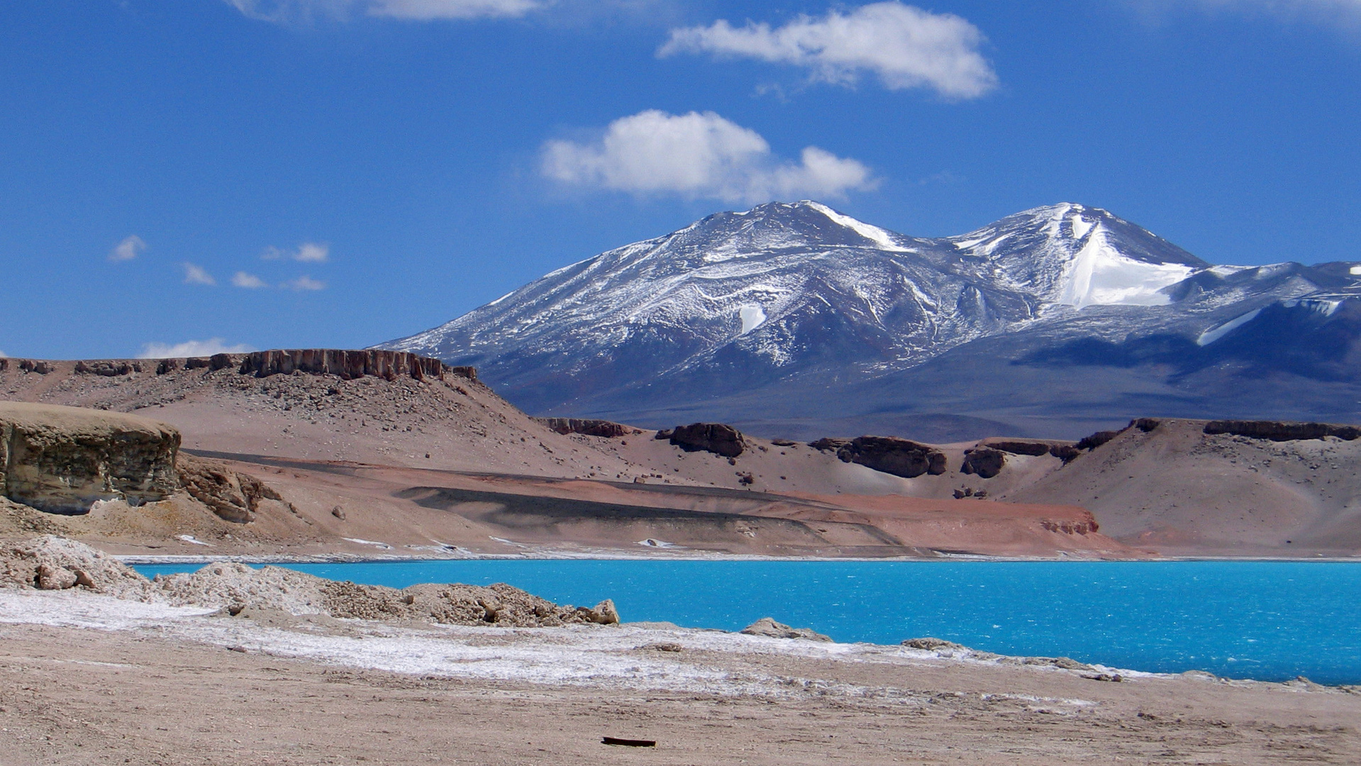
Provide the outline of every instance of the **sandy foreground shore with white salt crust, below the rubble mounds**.
[[[212,612],[0,590],[0,762],[1361,758],[1361,694],[1305,682],[1066,669],[951,648],[664,625],[504,629]],[[604,736],[657,746],[611,747]]]

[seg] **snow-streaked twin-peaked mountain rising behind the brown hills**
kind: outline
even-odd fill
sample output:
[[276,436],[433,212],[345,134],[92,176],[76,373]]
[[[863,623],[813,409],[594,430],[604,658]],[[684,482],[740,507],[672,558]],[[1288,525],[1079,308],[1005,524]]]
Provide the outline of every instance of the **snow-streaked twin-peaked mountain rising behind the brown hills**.
[[[864,418],[920,400],[915,376],[970,348],[996,347],[991,356],[1011,367],[1100,367],[1116,356],[1121,370],[1166,366],[1162,346],[1177,348],[1179,370],[1192,358],[1211,363],[1255,325],[1300,312],[1328,320],[1361,291],[1353,272],[1361,268],[1211,265],[1078,204],[923,239],[814,201],[770,203],[572,264],[382,347],[475,365],[531,412],[774,423],[799,419],[789,411],[799,405]],[[860,404],[829,404],[851,390]]]

